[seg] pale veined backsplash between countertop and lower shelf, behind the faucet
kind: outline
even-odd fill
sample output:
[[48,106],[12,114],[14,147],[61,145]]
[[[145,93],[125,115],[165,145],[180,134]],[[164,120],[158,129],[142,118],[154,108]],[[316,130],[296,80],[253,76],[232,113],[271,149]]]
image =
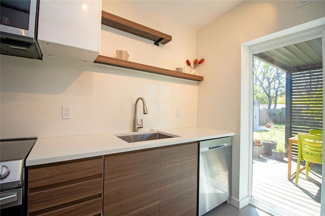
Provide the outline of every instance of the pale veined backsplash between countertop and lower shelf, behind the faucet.
[[[142,114],[140,101],[143,130],[197,125],[196,82],[54,57],[1,56],[1,138],[132,131],[138,97],[149,112]],[[61,119],[62,105],[72,105],[72,119]]]

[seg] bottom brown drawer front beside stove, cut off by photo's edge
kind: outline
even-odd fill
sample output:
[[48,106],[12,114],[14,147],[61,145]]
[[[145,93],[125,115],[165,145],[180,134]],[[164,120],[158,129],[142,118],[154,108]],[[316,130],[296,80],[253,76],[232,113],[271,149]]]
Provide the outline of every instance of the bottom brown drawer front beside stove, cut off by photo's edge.
[[[75,205],[71,205],[68,207],[52,210],[45,213],[40,213],[36,215],[43,215],[43,216],[59,216],[59,215],[96,215],[102,213],[102,198],[96,198],[93,200],[81,202]],[[32,214],[34,215],[34,214]]]

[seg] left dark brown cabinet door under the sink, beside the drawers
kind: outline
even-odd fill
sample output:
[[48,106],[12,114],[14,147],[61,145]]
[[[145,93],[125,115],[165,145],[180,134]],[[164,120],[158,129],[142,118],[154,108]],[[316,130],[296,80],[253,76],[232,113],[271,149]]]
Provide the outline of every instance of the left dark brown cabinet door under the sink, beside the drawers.
[[159,215],[160,149],[105,157],[104,215]]

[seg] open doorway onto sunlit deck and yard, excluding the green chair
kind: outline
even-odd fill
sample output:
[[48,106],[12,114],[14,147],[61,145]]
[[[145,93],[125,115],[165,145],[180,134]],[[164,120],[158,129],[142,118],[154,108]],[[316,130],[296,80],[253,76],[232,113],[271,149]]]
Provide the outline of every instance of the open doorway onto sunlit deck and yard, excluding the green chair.
[[252,52],[251,203],[279,214],[318,215],[322,167],[312,166],[308,179],[302,171],[295,185],[295,137],[323,128],[322,38],[257,50]]

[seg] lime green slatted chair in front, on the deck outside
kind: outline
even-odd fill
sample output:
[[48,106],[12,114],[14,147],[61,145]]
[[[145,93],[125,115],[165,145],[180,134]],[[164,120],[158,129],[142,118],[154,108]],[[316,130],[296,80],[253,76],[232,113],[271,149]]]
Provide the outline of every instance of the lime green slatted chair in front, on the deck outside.
[[323,136],[298,133],[298,160],[296,171],[296,183],[300,172],[300,161],[306,161],[306,178],[310,170],[309,162],[321,164]]

